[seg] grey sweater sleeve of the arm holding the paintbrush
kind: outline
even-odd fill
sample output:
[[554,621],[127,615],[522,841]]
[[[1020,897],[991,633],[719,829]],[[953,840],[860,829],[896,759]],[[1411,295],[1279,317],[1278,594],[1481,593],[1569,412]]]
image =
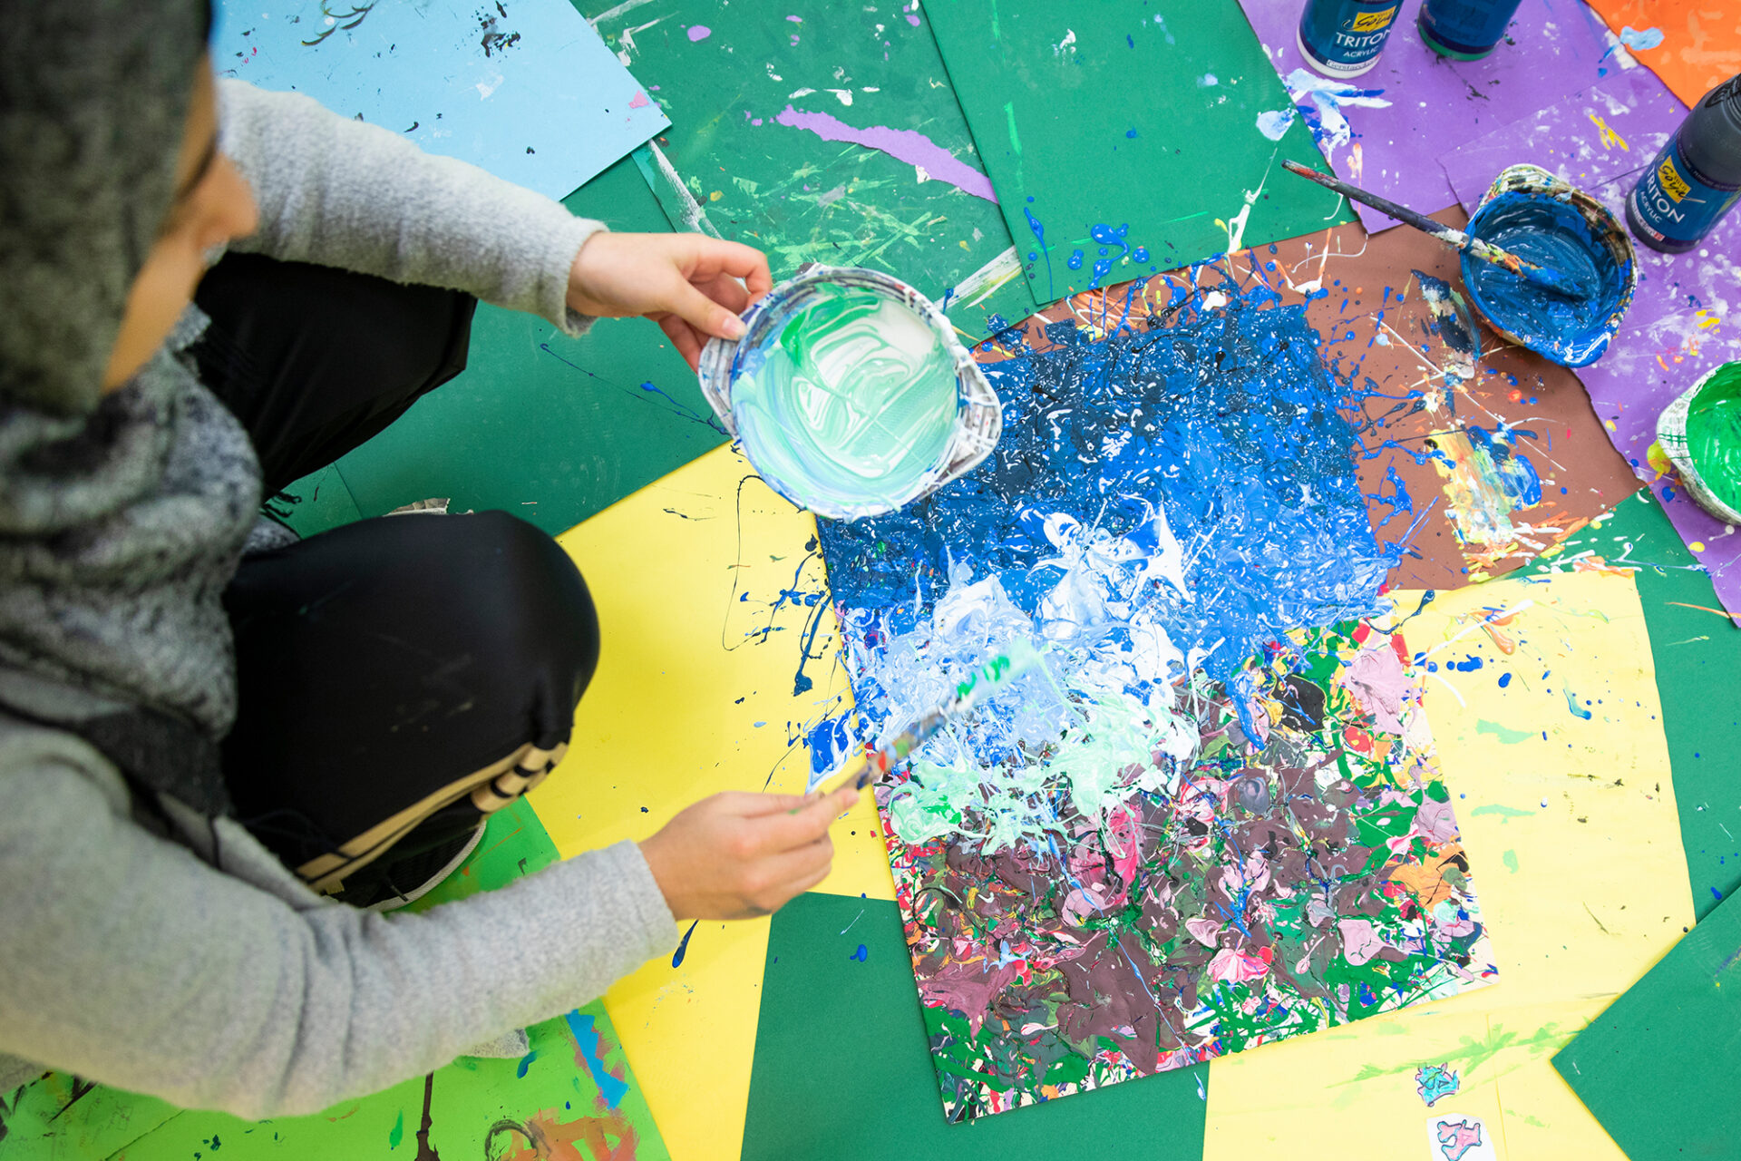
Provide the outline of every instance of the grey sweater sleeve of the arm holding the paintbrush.
[[378,1091],[677,942],[629,841],[378,916],[280,891],[289,872],[228,820],[230,858],[270,874],[198,862],[138,827],[118,783],[59,731],[0,747],[0,1051],[183,1107],[268,1117]]

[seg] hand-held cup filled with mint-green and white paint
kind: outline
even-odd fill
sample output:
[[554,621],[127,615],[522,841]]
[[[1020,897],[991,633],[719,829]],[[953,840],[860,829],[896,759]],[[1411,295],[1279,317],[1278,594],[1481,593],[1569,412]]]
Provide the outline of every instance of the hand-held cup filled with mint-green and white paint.
[[998,444],[998,393],[937,306],[874,270],[801,266],[702,350],[702,393],[763,480],[817,515],[893,512]]

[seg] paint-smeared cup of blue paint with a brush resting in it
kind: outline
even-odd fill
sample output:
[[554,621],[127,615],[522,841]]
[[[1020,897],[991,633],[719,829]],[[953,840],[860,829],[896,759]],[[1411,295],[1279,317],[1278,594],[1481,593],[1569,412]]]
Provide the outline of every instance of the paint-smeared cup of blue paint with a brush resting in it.
[[1464,254],[1462,284],[1487,325],[1562,367],[1602,357],[1638,285],[1637,252],[1614,214],[1546,169],[1513,165],[1482,195],[1468,230],[1591,287],[1569,299]]

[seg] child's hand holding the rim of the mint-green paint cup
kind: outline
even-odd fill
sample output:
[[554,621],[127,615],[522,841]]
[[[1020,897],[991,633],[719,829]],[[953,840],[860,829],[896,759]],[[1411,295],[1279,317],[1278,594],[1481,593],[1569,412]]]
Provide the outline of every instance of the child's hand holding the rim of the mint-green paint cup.
[[768,258],[703,233],[595,233],[568,273],[583,315],[646,315],[691,367],[709,338],[743,334],[738,313],[773,287]]

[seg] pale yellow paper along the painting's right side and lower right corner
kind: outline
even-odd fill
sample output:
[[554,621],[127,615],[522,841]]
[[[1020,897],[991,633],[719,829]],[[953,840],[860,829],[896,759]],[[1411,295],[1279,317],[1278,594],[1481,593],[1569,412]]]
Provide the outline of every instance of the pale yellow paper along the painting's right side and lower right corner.
[[[1480,1116],[1501,1161],[1624,1161],[1548,1062],[1692,924],[1638,590],[1490,581],[1402,632],[1435,667],[1428,721],[1499,985],[1215,1060],[1203,1158],[1426,1158],[1422,1124],[1452,1112]],[[1461,1079],[1431,1109],[1429,1064]]]

